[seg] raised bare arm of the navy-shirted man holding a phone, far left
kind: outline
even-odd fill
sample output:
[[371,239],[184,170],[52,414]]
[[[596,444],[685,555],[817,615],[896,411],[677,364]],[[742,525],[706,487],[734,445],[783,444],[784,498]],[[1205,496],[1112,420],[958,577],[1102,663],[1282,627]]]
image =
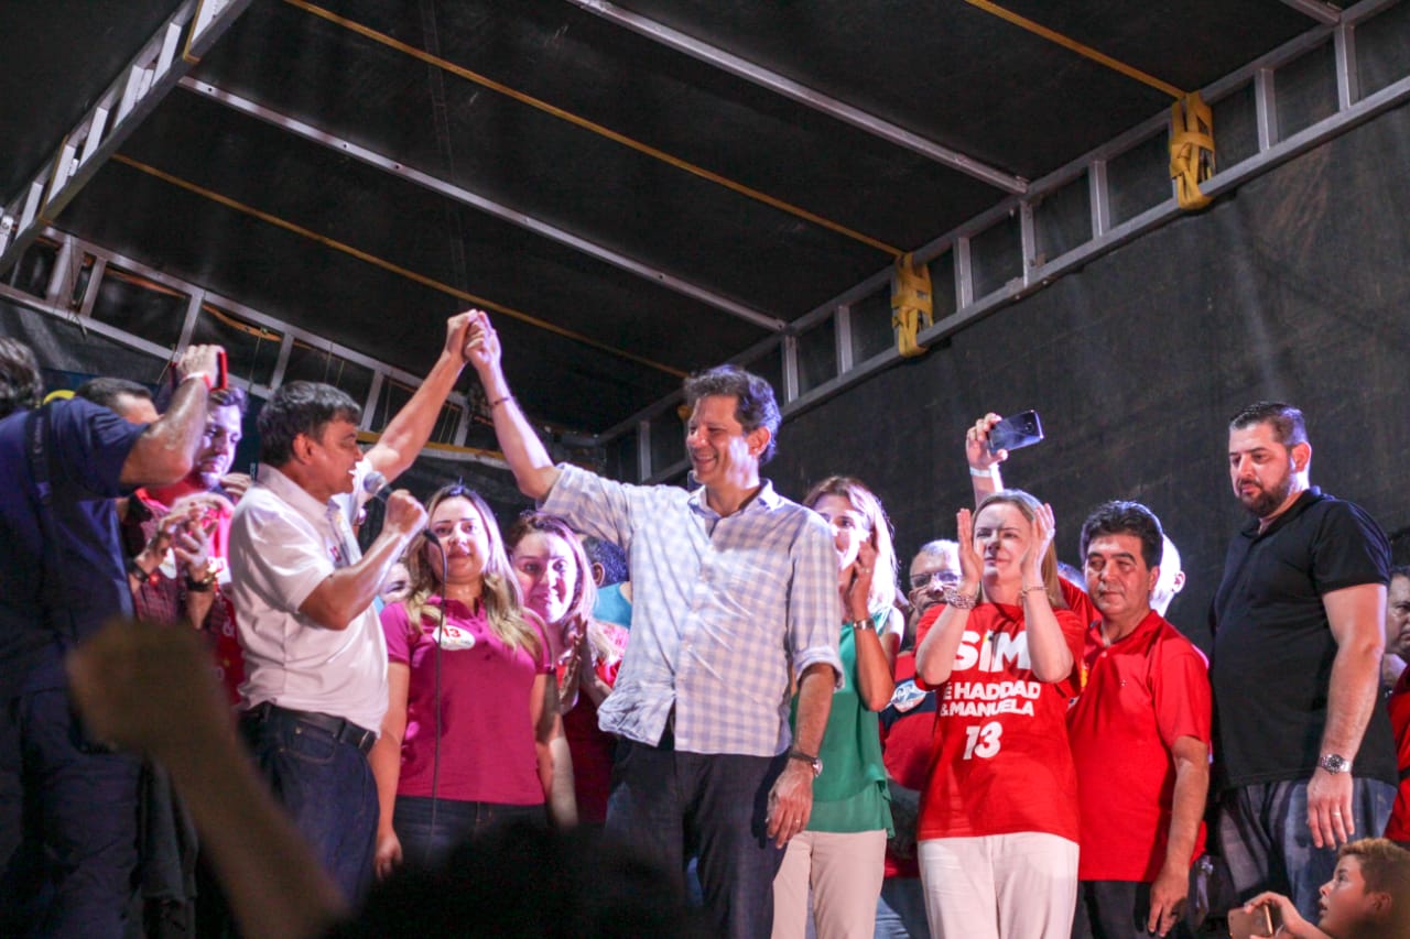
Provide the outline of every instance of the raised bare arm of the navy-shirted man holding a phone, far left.
[[214,381],[219,345],[189,345],[176,360],[176,393],[166,413],[127,451],[118,477],[125,486],[162,486],[190,472],[196,447],[206,433],[206,379]]

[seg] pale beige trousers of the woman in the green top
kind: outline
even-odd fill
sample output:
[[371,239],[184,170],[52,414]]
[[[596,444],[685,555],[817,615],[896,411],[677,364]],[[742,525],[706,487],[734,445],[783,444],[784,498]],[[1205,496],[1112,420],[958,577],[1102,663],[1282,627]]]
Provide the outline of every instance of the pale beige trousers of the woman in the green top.
[[773,939],[808,935],[808,888],[818,939],[871,939],[885,874],[885,832],[799,832],[774,877]]

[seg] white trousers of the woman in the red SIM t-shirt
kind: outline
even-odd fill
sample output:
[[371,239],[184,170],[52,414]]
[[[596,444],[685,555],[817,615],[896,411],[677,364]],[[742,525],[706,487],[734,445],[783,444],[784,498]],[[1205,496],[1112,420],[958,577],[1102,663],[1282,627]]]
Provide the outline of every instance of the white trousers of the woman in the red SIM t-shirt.
[[[1069,939],[1077,843],[1019,832],[921,842],[925,915],[935,939]],[[777,922],[777,919],[776,919]]]

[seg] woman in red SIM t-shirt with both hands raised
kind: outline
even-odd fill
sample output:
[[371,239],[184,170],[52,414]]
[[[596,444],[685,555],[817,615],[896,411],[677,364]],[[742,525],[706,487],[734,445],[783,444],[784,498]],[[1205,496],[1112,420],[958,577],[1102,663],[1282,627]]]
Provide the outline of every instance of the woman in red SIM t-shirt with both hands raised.
[[1083,623],[1062,599],[1049,506],[1005,489],[957,526],[960,585],[916,640],[916,684],[938,692],[916,835],[926,916],[938,938],[1067,939],[1077,777],[1065,715]]

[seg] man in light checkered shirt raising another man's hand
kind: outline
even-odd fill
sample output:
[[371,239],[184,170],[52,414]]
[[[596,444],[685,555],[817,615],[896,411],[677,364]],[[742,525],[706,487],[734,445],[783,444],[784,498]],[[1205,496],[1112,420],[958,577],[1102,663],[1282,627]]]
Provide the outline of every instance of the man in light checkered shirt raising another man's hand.
[[519,488],[629,558],[632,642],[599,708],[619,736],[608,832],[677,878],[697,852],[718,933],[768,935],[774,873],[808,823],[842,674],[832,533],[759,475],[780,423],[774,392],[729,365],[692,375],[685,448],[699,488],[613,482],[553,464],[509,392],[489,317],[477,317],[465,354]]

